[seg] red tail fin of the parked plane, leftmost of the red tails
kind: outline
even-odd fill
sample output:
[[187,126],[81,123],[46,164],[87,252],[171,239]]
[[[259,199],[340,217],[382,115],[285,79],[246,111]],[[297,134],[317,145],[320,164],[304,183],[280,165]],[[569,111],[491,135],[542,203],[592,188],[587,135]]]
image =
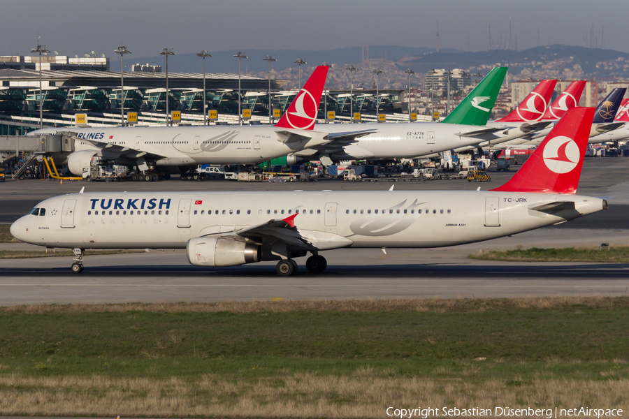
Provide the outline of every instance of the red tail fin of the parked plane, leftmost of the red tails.
[[326,84],[328,66],[318,66],[295,96],[288,110],[275,126],[310,130],[315,128],[321,94]]

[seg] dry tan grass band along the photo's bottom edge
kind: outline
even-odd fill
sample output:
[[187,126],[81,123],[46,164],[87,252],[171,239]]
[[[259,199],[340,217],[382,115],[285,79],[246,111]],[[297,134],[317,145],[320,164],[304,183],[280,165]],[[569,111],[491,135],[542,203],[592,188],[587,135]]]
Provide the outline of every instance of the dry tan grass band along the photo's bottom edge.
[[247,380],[0,376],[1,415],[381,418],[389,406],[629,409],[629,381],[491,380],[312,373]]

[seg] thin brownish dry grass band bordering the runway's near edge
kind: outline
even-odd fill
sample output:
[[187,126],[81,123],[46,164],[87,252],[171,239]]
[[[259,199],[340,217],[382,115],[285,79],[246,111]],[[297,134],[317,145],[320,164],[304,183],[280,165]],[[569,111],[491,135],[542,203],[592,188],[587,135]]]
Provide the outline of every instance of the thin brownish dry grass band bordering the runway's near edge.
[[[180,302],[124,304],[31,304],[0,307],[0,313],[121,313],[145,311],[151,313],[289,313],[291,311],[362,313],[377,311],[417,311],[446,313],[450,311],[483,312],[504,309],[561,309],[629,307],[629,297],[516,297],[516,298],[409,298],[406,300],[307,300],[250,302]],[[170,337],[177,343],[178,335]]]

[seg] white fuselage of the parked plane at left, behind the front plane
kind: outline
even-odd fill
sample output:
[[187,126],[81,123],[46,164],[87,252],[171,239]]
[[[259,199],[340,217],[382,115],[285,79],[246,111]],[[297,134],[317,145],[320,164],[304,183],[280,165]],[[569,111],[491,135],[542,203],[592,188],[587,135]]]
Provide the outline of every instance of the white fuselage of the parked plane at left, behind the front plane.
[[[75,135],[77,151],[99,150],[103,157],[112,160],[136,159],[141,157],[139,154],[145,153],[157,156],[157,166],[254,164],[327,142],[326,134],[317,131],[238,125],[44,128],[30,135],[59,131]],[[286,133],[295,133],[296,136],[291,138]],[[114,147],[103,149],[92,142]]]

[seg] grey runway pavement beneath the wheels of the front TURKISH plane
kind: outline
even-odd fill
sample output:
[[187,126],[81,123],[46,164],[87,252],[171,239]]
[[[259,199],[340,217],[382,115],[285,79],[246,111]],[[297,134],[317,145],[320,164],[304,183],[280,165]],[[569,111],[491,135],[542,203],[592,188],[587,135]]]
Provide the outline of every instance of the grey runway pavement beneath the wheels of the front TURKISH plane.
[[585,232],[584,244],[625,240],[614,230],[543,230],[448,249],[342,249],[324,252],[328,268],[277,277],[275,263],[203,268],[183,251],[87,256],[85,271],[71,257],[2,260],[0,304],[331,300],[347,298],[629,295],[629,264],[498,263],[467,258],[481,249],[508,249],[540,240],[561,246]]

